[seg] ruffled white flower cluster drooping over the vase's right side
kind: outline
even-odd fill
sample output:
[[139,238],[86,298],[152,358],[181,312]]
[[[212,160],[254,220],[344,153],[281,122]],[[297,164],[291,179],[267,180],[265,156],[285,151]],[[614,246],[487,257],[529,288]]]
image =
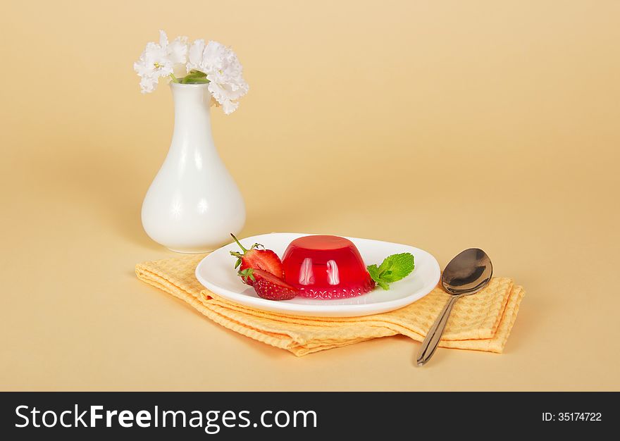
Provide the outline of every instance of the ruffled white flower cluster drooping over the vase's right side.
[[249,90],[237,54],[221,43],[209,42],[205,46],[204,40],[199,39],[190,46],[189,58],[187,71],[196,69],[206,73],[213,98],[226,115],[233,113],[239,106],[236,101]]

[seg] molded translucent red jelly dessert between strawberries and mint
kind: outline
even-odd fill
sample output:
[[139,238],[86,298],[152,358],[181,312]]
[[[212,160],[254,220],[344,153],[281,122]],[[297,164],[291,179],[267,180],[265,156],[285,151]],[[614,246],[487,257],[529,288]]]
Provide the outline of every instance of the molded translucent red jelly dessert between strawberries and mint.
[[344,299],[375,287],[359,251],[344,237],[299,237],[287,247],[282,263],[285,281],[302,297]]

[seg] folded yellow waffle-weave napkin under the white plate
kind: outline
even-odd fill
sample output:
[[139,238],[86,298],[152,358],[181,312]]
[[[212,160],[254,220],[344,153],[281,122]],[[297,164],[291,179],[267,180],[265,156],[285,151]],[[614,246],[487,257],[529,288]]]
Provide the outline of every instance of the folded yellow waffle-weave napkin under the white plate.
[[[363,317],[302,317],[260,311],[229,302],[200,285],[194,271],[205,255],[139,263],[136,274],[216,323],[297,356],[397,334],[421,342],[449,296],[436,287],[409,306]],[[454,305],[440,347],[501,353],[523,294],[523,287],[514,285],[512,279],[492,278],[484,290]]]

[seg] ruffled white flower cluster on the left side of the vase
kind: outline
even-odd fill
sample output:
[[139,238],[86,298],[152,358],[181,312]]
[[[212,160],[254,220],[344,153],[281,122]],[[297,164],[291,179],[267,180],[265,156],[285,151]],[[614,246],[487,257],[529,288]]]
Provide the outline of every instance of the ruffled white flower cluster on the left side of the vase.
[[142,93],[153,92],[160,77],[167,77],[174,72],[175,66],[187,61],[187,37],[177,37],[168,44],[168,36],[159,31],[159,44],[147,43],[140,59],[133,65],[140,75]]

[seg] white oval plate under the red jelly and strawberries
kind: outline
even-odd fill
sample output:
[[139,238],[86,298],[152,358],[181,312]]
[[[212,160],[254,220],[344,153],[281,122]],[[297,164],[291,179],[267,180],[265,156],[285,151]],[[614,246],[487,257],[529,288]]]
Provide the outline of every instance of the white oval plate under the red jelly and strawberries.
[[[240,242],[245,247],[258,242],[268,249],[273,249],[280,258],[288,244],[297,237],[306,234],[293,232],[272,232],[267,235],[246,237]],[[261,299],[254,288],[244,285],[237,272],[233,269],[235,258],[230,256],[229,251],[240,251],[237,244],[225,245],[209,256],[206,256],[196,268],[196,277],[208,290],[231,302],[250,306],[264,311],[294,314],[297,316],[315,317],[354,317],[368,316],[394,309],[402,308],[421,299],[439,282],[441,271],[439,263],[423,249],[410,247],[409,245],[381,242],[380,240],[356,239],[351,240],[366,265],[381,263],[390,254],[409,252],[415,256],[415,269],[403,280],[392,283],[390,290],[382,290],[380,287],[349,299],[307,299],[295,297],[291,300]]]

